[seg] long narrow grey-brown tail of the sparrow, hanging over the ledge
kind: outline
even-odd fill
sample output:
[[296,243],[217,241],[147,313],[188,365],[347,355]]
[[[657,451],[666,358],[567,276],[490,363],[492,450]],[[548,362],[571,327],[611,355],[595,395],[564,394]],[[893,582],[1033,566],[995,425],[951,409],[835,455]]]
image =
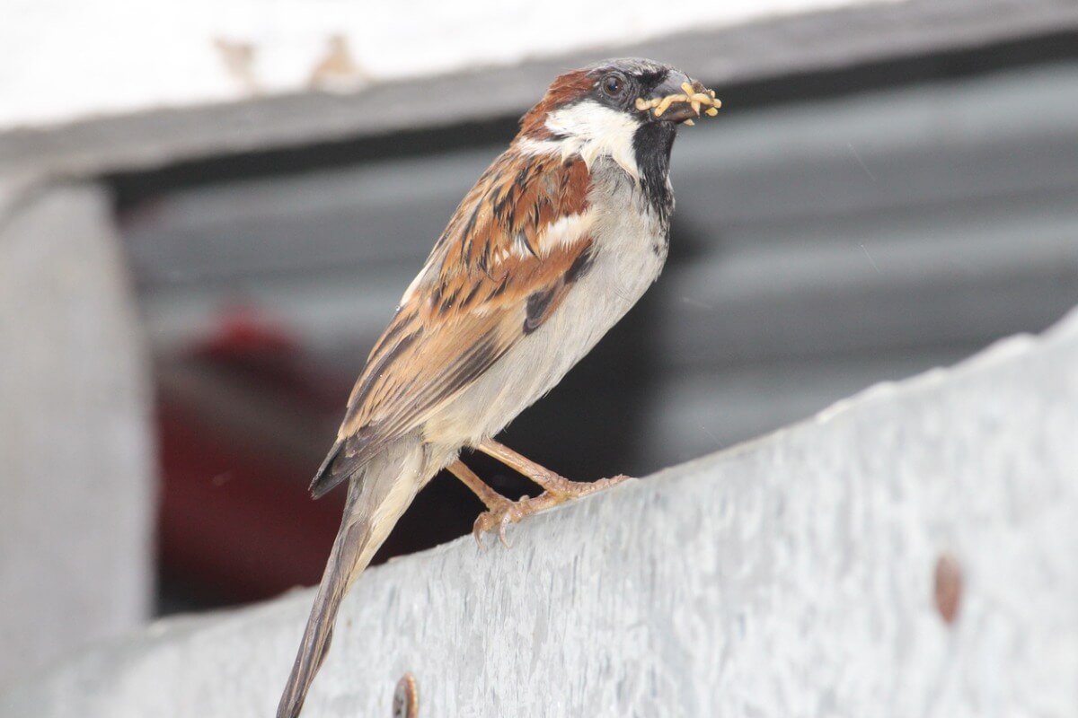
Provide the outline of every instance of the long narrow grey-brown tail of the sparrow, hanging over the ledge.
[[348,487],[341,530],[315,595],[292,673],[280,696],[277,718],[300,715],[307,689],[329,652],[341,601],[427,478],[421,473],[421,448],[411,447],[410,451],[388,454],[386,461],[374,462],[376,466],[367,467],[363,476],[353,479]]

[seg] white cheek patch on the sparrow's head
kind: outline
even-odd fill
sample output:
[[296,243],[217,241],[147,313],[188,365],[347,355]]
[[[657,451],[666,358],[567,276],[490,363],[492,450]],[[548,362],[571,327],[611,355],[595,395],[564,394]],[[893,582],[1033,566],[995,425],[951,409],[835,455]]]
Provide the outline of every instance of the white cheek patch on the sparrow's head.
[[591,169],[599,157],[610,157],[633,178],[639,179],[633,137],[640,122],[625,112],[584,100],[550,113],[547,128],[565,137],[543,144],[561,145],[563,155],[579,154]]

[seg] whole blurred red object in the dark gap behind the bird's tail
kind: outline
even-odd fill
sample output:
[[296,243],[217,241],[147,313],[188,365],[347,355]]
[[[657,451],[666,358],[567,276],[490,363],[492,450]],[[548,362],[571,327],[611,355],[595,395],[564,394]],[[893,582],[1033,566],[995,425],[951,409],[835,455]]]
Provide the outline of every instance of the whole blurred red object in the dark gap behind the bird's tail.
[[251,306],[222,311],[157,378],[165,576],[215,603],[317,583],[344,492],[314,502],[306,487],[347,386]]

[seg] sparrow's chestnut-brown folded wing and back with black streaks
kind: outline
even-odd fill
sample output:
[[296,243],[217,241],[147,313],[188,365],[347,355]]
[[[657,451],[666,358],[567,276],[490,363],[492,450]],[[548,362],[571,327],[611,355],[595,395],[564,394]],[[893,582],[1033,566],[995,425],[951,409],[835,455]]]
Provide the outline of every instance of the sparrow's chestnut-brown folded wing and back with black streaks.
[[591,239],[539,240],[586,211],[589,182],[580,160],[512,149],[484,173],[371,352],[342,439],[362,432],[370,455],[412,431],[550,316],[586,265]]

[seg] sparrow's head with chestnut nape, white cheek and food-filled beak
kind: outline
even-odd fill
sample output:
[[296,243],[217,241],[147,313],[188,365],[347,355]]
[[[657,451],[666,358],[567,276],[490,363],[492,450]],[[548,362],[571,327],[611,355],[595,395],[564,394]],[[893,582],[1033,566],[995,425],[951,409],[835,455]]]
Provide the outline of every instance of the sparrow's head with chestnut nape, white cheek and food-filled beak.
[[678,124],[714,115],[715,93],[668,65],[606,60],[557,78],[521,119],[519,146],[579,154],[591,167],[609,157],[639,179],[645,164],[665,172]]

